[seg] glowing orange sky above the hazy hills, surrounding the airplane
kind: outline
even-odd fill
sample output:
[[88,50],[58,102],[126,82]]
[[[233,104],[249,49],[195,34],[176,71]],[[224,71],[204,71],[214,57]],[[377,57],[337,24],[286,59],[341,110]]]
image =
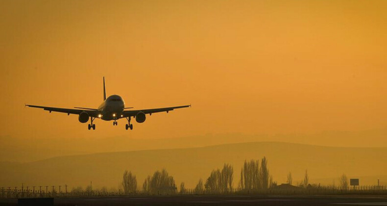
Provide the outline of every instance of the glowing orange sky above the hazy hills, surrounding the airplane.
[[[0,136],[386,129],[386,11],[385,0],[3,0]],[[192,108],[132,131],[24,108],[97,107],[103,76],[126,106]]]

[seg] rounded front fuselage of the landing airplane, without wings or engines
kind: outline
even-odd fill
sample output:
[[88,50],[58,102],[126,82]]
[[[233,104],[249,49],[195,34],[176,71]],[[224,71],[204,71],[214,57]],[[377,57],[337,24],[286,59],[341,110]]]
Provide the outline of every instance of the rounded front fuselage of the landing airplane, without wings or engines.
[[121,118],[125,102],[118,95],[111,95],[101,103],[98,111],[101,112],[101,119],[105,121],[117,120]]

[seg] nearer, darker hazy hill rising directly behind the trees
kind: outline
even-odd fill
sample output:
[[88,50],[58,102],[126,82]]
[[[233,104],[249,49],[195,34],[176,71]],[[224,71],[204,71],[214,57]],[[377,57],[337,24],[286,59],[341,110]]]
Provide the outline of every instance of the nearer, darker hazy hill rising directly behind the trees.
[[[305,170],[311,182],[332,184],[345,173],[348,177],[387,178],[387,148],[340,148],[281,142],[250,142],[208,147],[145,150],[60,156],[40,161],[0,163],[0,186],[21,185],[88,185],[118,187],[125,169],[132,171],[141,187],[147,175],[166,168],[177,185],[185,182],[193,188],[205,180],[212,169],[223,163],[234,166],[234,186],[238,186],[245,159],[268,159],[269,172],[283,183],[289,171],[293,184],[302,180]],[[321,182],[326,181],[326,182]],[[315,182],[315,183],[318,183]],[[362,184],[374,184],[361,180]],[[387,183],[382,179],[381,183]]]

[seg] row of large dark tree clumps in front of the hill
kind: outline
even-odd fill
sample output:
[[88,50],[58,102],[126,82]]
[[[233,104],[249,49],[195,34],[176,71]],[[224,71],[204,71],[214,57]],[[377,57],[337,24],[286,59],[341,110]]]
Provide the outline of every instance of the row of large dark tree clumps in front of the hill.
[[[206,193],[229,193],[233,191],[234,168],[232,165],[225,163],[223,168],[214,169],[209,177],[205,180],[198,180],[194,192],[201,194]],[[273,184],[267,168],[267,159],[263,157],[259,160],[244,161],[241,169],[241,178],[238,185],[242,190],[259,190],[267,189]],[[135,193],[137,190],[137,179],[130,171],[125,170],[121,185],[125,194]],[[180,184],[180,193],[187,191],[184,182]],[[166,169],[155,171],[152,176],[145,178],[142,192],[147,194],[176,194],[177,187],[175,180],[169,175]]]

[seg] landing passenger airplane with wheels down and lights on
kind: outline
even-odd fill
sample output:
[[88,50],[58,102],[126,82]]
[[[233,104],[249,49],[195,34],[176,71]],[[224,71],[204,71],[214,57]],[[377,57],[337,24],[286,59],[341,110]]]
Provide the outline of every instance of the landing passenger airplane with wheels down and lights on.
[[93,121],[98,118],[105,121],[111,121],[114,120],[113,125],[117,126],[117,120],[121,118],[125,118],[128,121],[128,124],[126,124],[125,128],[128,130],[133,129],[133,125],[130,124],[130,120],[133,117],[136,122],[143,123],[145,122],[146,116],[145,114],[152,115],[156,112],[169,112],[173,109],[178,108],[184,108],[184,107],[191,107],[190,105],[183,105],[183,106],[172,106],[172,107],[165,107],[165,108],[156,108],[156,109],[141,109],[141,110],[125,110],[130,109],[133,107],[125,107],[125,103],[123,99],[118,95],[111,95],[108,98],[106,98],[106,89],[105,89],[105,77],[103,77],[103,102],[97,109],[93,108],[85,108],[85,107],[74,107],[75,109],[67,109],[67,108],[57,108],[57,107],[48,107],[48,106],[37,106],[37,105],[30,105],[26,104],[25,106],[28,107],[35,107],[35,108],[42,108],[44,110],[48,110],[49,113],[52,111],[54,112],[62,112],[67,113],[67,115],[70,114],[77,114],[79,115],[78,121],[81,123],[87,123],[90,119],[91,124],[88,125],[88,129],[96,129],[96,125],[93,124]]

